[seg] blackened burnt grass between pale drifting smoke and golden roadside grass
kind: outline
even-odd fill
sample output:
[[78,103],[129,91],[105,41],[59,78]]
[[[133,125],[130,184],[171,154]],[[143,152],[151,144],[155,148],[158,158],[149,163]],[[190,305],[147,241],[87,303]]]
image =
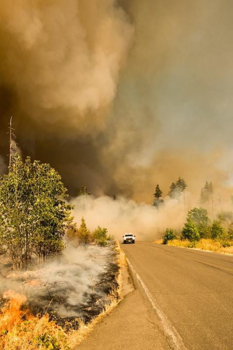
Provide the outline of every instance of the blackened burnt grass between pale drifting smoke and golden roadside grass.
[[[116,263],[116,251],[114,250],[108,257],[107,266],[104,273],[99,275],[99,283],[95,285],[93,293],[84,294],[85,303],[73,305],[68,302],[69,293],[74,292],[72,285],[50,284],[46,288],[46,292],[33,299],[28,299],[23,309],[29,310],[33,315],[42,316],[49,315],[49,319],[53,320],[64,328],[78,329],[79,318],[85,323],[91,322],[93,318],[102,312],[104,305],[110,303],[108,295],[113,289],[118,287],[116,278],[119,273],[119,266]],[[5,299],[0,298],[0,309],[5,304]],[[59,315],[59,307],[66,310],[67,316]],[[70,316],[71,315],[71,316]]]

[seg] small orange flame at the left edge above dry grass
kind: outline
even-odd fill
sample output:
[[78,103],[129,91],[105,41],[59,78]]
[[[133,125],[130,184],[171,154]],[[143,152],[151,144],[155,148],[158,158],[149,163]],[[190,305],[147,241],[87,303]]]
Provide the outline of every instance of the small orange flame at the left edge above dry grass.
[[3,298],[7,299],[6,305],[0,311],[0,332],[10,331],[21,320],[24,312],[21,310],[26,297],[14,291],[4,292]]

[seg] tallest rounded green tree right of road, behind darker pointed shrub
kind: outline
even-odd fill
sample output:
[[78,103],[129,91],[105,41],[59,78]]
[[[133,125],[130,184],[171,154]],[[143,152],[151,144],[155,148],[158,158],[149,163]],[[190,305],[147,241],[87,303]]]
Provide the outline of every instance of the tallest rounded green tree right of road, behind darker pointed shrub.
[[208,218],[208,211],[206,209],[193,208],[188,211],[187,217],[196,225],[200,238],[210,237],[210,219]]

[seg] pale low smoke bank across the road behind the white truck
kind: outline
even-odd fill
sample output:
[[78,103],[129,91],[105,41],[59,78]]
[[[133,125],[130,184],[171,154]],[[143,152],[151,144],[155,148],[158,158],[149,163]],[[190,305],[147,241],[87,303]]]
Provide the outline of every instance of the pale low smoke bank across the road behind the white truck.
[[78,223],[83,216],[88,228],[107,227],[109,234],[120,241],[125,233],[133,233],[139,241],[161,238],[167,226],[181,229],[186,216],[183,203],[179,205],[177,200],[169,199],[161,210],[146,203],[137,204],[125,197],[114,200],[107,196],[88,196],[84,202],[81,196],[72,202]]

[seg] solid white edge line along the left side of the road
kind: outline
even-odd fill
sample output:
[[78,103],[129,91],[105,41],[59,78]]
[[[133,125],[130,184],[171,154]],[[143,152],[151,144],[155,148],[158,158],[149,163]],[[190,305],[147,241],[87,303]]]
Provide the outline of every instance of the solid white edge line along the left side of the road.
[[166,315],[163,313],[163,311],[160,309],[157,301],[152,297],[149,289],[146,287],[145,283],[141,279],[141,277],[138,275],[138,273],[134,270],[131,262],[128,258],[126,258],[130,269],[132,270],[133,274],[136,276],[136,278],[139,280],[139,282],[142,285],[142,288],[144,289],[148,299],[150,300],[150,303],[153,307],[153,309],[156,311],[157,315],[160,318],[160,321],[163,325],[164,331],[166,335],[170,338],[172,345],[174,347],[174,350],[187,350],[185,345],[183,344],[183,340],[180,336],[180,334],[176,331],[176,329],[172,326],[170,321],[167,319]]

